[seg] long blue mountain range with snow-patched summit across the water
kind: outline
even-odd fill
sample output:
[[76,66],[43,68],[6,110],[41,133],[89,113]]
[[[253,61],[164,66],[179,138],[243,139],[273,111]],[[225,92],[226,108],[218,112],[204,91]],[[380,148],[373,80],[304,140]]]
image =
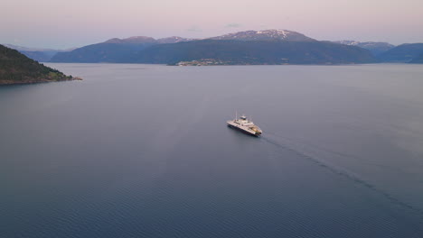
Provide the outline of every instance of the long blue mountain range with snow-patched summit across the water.
[[344,64],[376,62],[369,50],[316,41],[287,30],[236,32],[205,40],[137,36],[110,39],[57,53],[52,62],[176,64],[186,60],[221,64]]

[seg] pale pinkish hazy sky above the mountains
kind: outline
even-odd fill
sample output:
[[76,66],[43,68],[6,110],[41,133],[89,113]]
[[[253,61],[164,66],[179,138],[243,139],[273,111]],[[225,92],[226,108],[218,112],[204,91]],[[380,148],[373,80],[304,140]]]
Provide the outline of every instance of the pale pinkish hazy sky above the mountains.
[[265,29],[328,41],[423,42],[423,0],[0,0],[0,5],[0,43],[29,47]]

